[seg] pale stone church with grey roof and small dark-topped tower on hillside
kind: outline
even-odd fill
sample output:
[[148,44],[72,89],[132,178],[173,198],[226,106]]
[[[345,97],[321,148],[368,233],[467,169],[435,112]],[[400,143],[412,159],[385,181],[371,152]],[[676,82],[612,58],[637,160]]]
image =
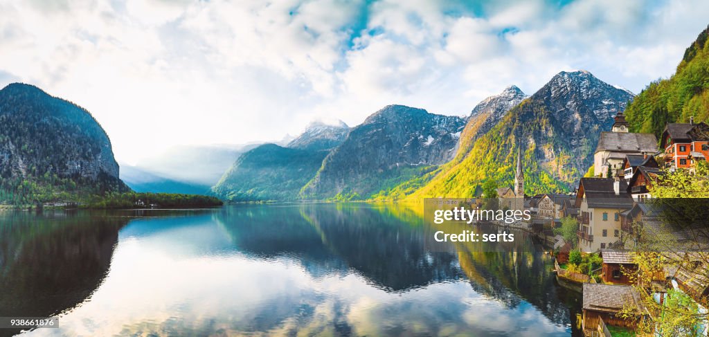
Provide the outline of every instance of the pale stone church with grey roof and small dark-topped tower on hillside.
[[[593,153],[593,172],[597,177],[610,178],[620,171],[627,154],[657,153],[657,138],[650,133],[628,132],[623,113],[615,116],[610,132],[601,132]],[[609,173],[610,171],[610,173]]]

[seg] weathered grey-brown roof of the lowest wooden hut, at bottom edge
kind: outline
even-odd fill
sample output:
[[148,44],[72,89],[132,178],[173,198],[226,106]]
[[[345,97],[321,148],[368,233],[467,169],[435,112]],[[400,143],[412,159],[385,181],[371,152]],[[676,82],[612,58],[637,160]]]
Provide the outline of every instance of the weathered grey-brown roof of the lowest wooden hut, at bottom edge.
[[627,306],[642,310],[640,295],[630,285],[584,283],[584,310],[620,312]]

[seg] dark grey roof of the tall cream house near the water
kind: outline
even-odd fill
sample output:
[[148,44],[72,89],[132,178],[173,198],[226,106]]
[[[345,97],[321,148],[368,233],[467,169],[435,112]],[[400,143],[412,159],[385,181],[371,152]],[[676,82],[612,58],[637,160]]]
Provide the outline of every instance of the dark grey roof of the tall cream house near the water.
[[627,183],[618,181],[617,195],[613,189],[614,183],[613,178],[581,178],[579,196],[581,195],[581,188],[583,188],[589,208],[629,209],[632,207],[633,200],[630,194],[627,193]]

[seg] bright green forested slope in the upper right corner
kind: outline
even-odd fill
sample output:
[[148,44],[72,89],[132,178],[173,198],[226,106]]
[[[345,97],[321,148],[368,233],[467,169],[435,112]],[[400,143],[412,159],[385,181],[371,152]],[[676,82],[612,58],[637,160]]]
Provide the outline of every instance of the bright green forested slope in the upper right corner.
[[660,137],[668,122],[709,122],[709,27],[687,47],[676,73],[654,81],[628,105],[632,132]]

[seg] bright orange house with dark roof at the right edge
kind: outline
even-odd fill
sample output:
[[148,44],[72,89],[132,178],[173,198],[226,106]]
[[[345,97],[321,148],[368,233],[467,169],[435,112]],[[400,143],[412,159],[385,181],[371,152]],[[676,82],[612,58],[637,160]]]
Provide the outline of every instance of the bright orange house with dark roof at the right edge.
[[668,123],[662,132],[661,149],[665,164],[671,169],[690,169],[696,161],[709,156],[709,125],[694,123]]

